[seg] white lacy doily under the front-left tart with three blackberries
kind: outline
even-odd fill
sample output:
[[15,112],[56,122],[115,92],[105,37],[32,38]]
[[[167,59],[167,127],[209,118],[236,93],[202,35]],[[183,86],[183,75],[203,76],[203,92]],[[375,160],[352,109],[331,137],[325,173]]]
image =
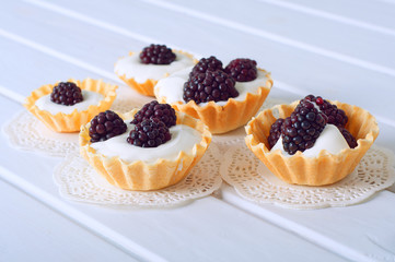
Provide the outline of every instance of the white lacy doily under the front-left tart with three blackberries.
[[219,175],[219,150],[211,144],[190,170],[177,184],[156,191],[128,191],[108,183],[82,157],[70,154],[54,171],[60,195],[72,201],[101,205],[131,207],[164,207],[211,194],[221,187]]

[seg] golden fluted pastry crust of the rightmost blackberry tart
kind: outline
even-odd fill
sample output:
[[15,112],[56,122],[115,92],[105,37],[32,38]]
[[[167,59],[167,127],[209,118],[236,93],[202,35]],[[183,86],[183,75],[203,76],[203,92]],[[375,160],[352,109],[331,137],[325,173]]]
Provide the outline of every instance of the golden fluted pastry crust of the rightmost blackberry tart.
[[278,109],[280,118],[289,117],[299,104],[294,102],[291,105],[266,109],[247,123],[245,142],[248,148],[272,174],[288,183],[324,186],[341,180],[353,171],[373,144],[379,135],[379,126],[375,118],[360,107],[339,102],[332,103],[345,110],[348,116],[346,128],[357,139],[357,147],[345,148],[335,155],[324,150],[317,157],[305,157],[302,152],[297,152],[290,157],[284,156],[279,150],[270,152],[267,138],[271,124],[276,121],[274,110]]

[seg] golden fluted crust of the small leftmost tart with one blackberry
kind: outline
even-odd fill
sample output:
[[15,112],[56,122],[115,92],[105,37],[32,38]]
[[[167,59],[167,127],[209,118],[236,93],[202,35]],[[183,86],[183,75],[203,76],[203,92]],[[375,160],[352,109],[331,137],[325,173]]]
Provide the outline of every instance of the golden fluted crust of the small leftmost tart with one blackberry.
[[43,85],[39,88],[32,92],[31,96],[26,98],[23,105],[30,112],[38,118],[47,128],[55,132],[78,132],[82,124],[89,122],[94,116],[101,111],[107,110],[116,97],[115,91],[117,85],[104,83],[102,80],[85,79],[83,81],[69,79],[69,82],[75,83],[81,90],[93,91],[100,93],[104,98],[98,105],[91,105],[86,110],[78,111],[74,109],[71,114],[58,112],[56,115],[46,110],[40,110],[35,105],[36,100],[45,95],[49,95],[53,92],[56,84]]

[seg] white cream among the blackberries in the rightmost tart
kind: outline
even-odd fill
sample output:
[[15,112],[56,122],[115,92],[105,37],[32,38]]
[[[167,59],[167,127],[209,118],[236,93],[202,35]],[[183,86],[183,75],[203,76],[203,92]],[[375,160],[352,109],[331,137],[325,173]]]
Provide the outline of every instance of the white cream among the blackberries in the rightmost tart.
[[[303,152],[303,155],[306,157],[317,157],[320,152],[323,150],[326,150],[330,154],[338,154],[344,148],[350,147],[348,146],[346,139],[342,136],[338,128],[336,128],[336,126],[334,124],[326,124],[323,132],[315,141],[313,147],[305,150]],[[275,146],[270,150],[270,152],[274,152],[276,150],[280,150],[281,153],[287,157],[292,156],[283,150],[281,136],[277,141]]]

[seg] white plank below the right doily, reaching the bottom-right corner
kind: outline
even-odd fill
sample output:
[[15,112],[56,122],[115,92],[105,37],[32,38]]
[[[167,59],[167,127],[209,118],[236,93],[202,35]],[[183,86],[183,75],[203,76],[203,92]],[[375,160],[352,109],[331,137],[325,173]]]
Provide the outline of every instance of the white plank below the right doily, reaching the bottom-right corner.
[[395,211],[388,203],[395,194],[381,192],[374,199],[353,206],[313,211],[256,205],[222,187],[223,200],[282,228],[320,242],[328,250],[352,261],[392,261],[395,259]]

